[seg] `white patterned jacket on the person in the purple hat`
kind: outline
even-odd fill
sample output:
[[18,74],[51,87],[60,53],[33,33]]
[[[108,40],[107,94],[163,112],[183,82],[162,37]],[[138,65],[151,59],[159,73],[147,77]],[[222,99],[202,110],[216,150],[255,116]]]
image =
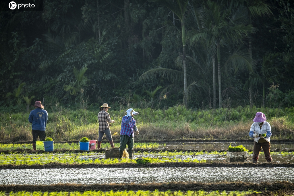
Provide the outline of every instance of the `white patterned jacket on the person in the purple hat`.
[[[258,123],[255,123],[255,122],[252,123],[251,128],[250,128],[250,131],[249,131],[249,136],[251,138],[254,138],[253,137],[253,133],[258,134],[258,135],[259,134],[266,133],[266,136],[263,139],[265,139],[266,141],[270,142],[270,136],[272,135],[272,129],[270,127],[270,123],[264,121],[263,122],[263,125],[261,126],[261,129],[260,129],[260,126],[259,126]],[[260,137],[254,138],[254,141],[255,142],[258,142],[259,139],[260,139]]]

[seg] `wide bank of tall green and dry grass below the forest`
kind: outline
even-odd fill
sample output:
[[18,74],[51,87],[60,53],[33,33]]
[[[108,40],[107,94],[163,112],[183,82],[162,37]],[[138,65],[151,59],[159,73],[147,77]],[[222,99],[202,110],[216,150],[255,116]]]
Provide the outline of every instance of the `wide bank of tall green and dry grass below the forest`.
[[[46,108],[45,108],[46,109]],[[251,140],[248,133],[256,112],[263,112],[272,126],[271,140],[294,140],[294,107],[220,108],[190,110],[175,106],[167,110],[136,109],[136,123],[140,131],[135,140]],[[0,141],[30,141],[29,112],[0,113]],[[69,110],[62,107],[48,110],[46,135],[55,141],[98,138],[99,111]],[[119,140],[121,118],[125,110],[108,110],[116,122],[111,126],[114,140]],[[107,140],[106,137],[103,140]]]

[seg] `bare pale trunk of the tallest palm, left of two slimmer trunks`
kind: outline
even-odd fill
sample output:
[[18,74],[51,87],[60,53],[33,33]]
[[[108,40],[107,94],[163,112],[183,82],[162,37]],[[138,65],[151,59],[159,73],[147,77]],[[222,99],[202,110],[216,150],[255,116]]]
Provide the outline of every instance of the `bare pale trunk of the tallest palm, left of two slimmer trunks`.
[[184,71],[184,105],[188,107],[188,89],[187,89],[187,68],[186,68],[186,31],[185,31],[185,21],[182,17],[182,43],[183,43],[183,71]]

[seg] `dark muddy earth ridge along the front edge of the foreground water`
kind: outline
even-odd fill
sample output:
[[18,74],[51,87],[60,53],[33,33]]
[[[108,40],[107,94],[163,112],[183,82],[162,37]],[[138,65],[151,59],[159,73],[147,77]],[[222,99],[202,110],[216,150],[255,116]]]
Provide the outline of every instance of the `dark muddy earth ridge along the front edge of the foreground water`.
[[[88,191],[88,190],[101,190],[101,191],[123,191],[123,190],[159,190],[159,191],[188,191],[188,190],[205,190],[205,191],[247,191],[257,190],[262,191],[262,195],[278,195],[293,194],[294,183],[290,182],[275,182],[275,183],[246,183],[246,182],[229,182],[229,183],[198,183],[198,182],[169,182],[169,183],[122,183],[122,184],[93,184],[93,185],[77,185],[77,184],[55,184],[55,185],[0,185],[0,191],[5,192],[18,192],[18,191],[41,191],[41,192],[54,192],[54,191]],[[253,194],[256,195],[256,194]]]

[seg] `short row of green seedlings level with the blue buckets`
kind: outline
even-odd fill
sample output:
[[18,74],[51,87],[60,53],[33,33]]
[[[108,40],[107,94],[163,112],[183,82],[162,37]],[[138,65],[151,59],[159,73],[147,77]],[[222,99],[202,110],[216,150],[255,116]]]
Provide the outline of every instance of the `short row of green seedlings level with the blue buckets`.
[[[115,146],[119,146],[119,143],[114,143]],[[165,147],[166,144],[159,143],[134,143],[134,148],[159,148]],[[101,148],[110,148],[109,143],[101,143]],[[17,149],[33,149],[32,144],[2,144],[0,143],[0,150],[17,150]],[[78,143],[54,143],[54,149],[61,150],[79,150]]]

